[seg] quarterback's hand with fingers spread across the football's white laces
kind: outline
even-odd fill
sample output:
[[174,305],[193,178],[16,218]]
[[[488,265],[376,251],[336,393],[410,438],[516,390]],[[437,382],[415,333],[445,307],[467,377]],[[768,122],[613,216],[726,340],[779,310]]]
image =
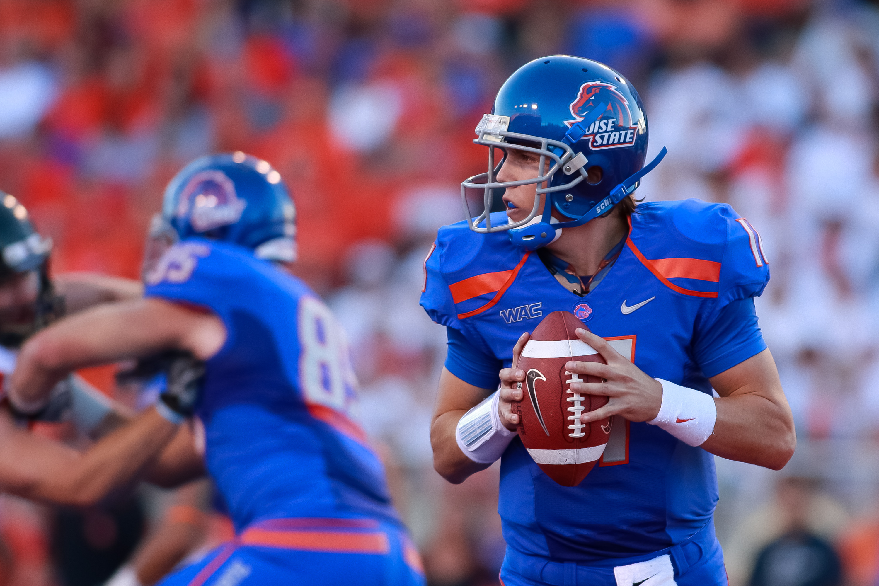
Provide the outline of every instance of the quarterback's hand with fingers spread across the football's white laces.
[[650,378],[615,351],[604,338],[583,328],[577,329],[577,336],[598,351],[607,364],[572,361],[565,368],[571,373],[589,374],[605,382],[572,382],[570,390],[609,397],[604,407],[584,413],[580,420],[590,423],[607,416],[621,415],[628,421],[650,421],[656,417],[662,405],[662,383]]

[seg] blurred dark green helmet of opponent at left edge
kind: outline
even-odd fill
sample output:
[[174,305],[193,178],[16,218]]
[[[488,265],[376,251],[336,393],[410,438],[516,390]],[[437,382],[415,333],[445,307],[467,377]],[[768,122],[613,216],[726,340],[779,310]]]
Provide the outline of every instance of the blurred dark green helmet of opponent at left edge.
[[9,193],[0,192],[0,287],[30,272],[39,279],[33,303],[0,307],[0,345],[18,346],[63,314],[63,300],[55,294],[48,274],[51,252],[52,239],[33,228],[25,206]]

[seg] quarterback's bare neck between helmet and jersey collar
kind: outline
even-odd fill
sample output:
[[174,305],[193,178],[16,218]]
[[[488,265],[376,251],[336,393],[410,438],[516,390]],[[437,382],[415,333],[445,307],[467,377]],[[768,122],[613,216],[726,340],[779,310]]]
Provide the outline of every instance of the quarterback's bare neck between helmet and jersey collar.
[[595,218],[577,228],[565,228],[547,249],[570,264],[578,275],[594,275],[628,232],[628,222],[619,209],[606,218]]

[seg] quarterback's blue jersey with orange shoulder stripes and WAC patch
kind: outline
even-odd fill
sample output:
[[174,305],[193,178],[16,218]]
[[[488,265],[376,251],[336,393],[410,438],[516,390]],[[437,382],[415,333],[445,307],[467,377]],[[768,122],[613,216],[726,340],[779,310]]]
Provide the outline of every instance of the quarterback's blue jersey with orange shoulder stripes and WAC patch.
[[[505,222],[492,217],[492,224]],[[759,235],[726,205],[645,203],[620,257],[591,293],[562,286],[536,253],[466,222],[441,228],[425,262],[421,305],[433,321],[510,365],[523,331],[557,310],[577,315],[650,376],[710,394],[708,377],[766,348],[723,309],[769,279]],[[733,324],[734,326],[734,324]],[[460,336],[459,336],[460,337]],[[598,561],[655,552],[698,532],[717,501],[714,457],[647,423],[614,422],[604,456],[578,487],[541,472],[519,438],[501,462],[507,545],[520,553]]]

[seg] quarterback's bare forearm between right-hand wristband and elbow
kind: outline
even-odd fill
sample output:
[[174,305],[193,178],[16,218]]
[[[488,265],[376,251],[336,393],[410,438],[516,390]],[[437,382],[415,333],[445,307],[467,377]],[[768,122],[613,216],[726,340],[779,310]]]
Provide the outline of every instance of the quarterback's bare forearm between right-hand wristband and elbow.
[[789,409],[762,394],[715,399],[714,433],[701,447],[726,459],[781,470],[796,447]]

